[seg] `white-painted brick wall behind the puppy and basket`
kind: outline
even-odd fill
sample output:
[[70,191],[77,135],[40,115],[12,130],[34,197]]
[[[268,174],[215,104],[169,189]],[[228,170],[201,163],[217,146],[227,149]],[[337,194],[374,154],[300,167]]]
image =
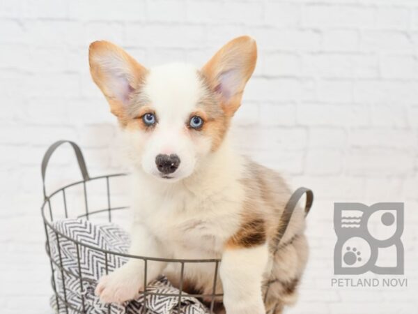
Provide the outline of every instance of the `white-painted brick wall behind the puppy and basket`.
[[[51,313],[39,213],[47,146],[79,142],[93,174],[122,168],[88,43],[112,40],[146,65],[203,64],[243,33],[259,60],[235,119],[238,146],[316,193],[311,260],[288,313],[418,313],[415,0],[1,1],[1,313]],[[58,151],[50,185],[74,181],[74,163]],[[343,201],[405,202],[407,289],[330,286],[332,203]]]

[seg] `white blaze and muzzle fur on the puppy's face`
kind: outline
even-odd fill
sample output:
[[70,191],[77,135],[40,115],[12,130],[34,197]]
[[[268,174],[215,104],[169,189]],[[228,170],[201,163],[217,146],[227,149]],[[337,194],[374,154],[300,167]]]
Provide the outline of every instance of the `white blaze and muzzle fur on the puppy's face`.
[[210,150],[208,140],[192,141],[187,132],[189,115],[196,110],[204,93],[198,68],[184,63],[151,68],[141,93],[150,101],[158,121],[142,154],[144,171],[159,177],[155,157],[176,154],[180,165],[171,175],[171,181],[188,177],[194,170],[196,158]]

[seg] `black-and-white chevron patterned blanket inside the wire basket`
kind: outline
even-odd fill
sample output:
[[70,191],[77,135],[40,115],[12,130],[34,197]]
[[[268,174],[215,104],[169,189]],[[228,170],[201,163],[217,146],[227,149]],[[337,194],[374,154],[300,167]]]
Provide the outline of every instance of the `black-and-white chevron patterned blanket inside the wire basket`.
[[[125,302],[125,304],[102,304],[95,296],[95,285],[100,276],[105,274],[106,262],[104,253],[94,248],[116,253],[127,253],[130,244],[127,232],[117,225],[93,224],[84,219],[64,219],[54,222],[55,229],[65,237],[91,246],[78,246],[75,242],[63,236],[57,238],[57,234],[49,230],[49,248],[54,264],[62,262],[63,271],[54,271],[56,292],[59,297],[52,296],[51,306],[55,313],[67,313],[64,300],[67,300],[68,313],[88,314],[206,314],[208,308],[203,306],[194,297],[182,294],[180,311],[178,311],[178,297],[161,295],[141,295],[138,299]],[[58,248],[61,248],[60,251]],[[110,271],[121,267],[127,261],[126,257],[118,255],[107,256],[107,267]],[[80,280],[80,271],[82,280]],[[164,276],[148,285],[147,290],[164,294],[178,294],[178,289],[173,287]],[[183,297],[184,296],[184,297]],[[146,311],[144,310],[146,304]]]

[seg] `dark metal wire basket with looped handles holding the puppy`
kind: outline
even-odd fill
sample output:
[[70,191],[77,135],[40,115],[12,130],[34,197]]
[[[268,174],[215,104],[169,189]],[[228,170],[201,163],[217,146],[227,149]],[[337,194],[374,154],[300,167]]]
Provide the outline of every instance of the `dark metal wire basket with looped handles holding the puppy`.
[[[79,170],[82,173],[83,179],[81,181],[74,182],[72,184],[68,184],[66,186],[63,186],[62,188],[59,188],[58,190],[55,190],[53,193],[47,195],[46,189],[45,189],[45,172],[47,170],[47,165],[49,162],[49,159],[51,158],[52,154],[54,154],[54,151],[64,143],[68,143],[71,145],[72,149],[75,151],[75,156],[77,157],[77,163],[79,165]],[[223,305],[222,305],[222,299],[223,294],[217,292],[219,289],[220,281],[218,280],[219,275],[219,263],[221,260],[219,259],[206,259],[206,260],[190,260],[190,259],[169,259],[169,258],[157,258],[157,257],[146,257],[146,256],[137,256],[137,255],[130,255],[124,252],[118,252],[116,250],[109,250],[106,248],[94,246],[88,241],[79,241],[77,239],[74,239],[74,237],[69,236],[68,234],[64,234],[59,230],[56,225],[54,225],[54,217],[57,216],[59,213],[59,209],[56,207],[56,202],[61,203],[63,206],[61,209],[61,216],[63,218],[85,218],[86,220],[89,220],[91,218],[95,218],[95,216],[105,216],[105,220],[107,222],[111,223],[114,215],[116,213],[119,213],[123,211],[123,209],[127,209],[126,206],[116,206],[114,205],[114,194],[111,193],[111,186],[114,186],[112,184],[112,181],[117,179],[118,177],[125,176],[125,174],[108,174],[100,177],[90,177],[88,175],[86,163],[84,161],[84,157],[82,154],[81,149],[75,144],[74,142],[61,140],[59,142],[56,142],[52,144],[51,147],[47,150],[45,153],[45,156],[42,160],[42,187],[43,187],[43,194],[44,194],[44,202],[41,207],[42,211],[42,219],[45,227],[45,234],[46,234],[46,244],[45,248],[47,251],[47,255],[49,256],[49,262],[51,265],[52,270],[52,289],[54,290],[54,298],[53,298],[53,307],[56,309],[56,313],[65,313],[65,314],[72,314],[72,313],[85,313],[90,314],[91,311],[88,311],[88,308],[86,308],[86,292],[88,292],[88,288],[90,289],[90,293],[94,294],[94,287],[92,285],[95,285],[97,278],[103,275],[109,274],[109,264],[112,263],[113,269],[118,268],[121,266],[121,263],[119,263],[119,266],[116,265],[115,267],[115,260],[119,259],[136,259],[141,260],[144,262],[144,292],[141,294],[142,301],[139,301],[140,311],[127,311],[128,314],[130,313],[147,313],[148,306],[147,306],[147,297],[167,297],[167,298],[176,298],[176,306],[171,308],[170,313],[176,313],[180,314],[183,313],[181,310],[182,304],[184,304],[185,301],[187,301],[188,298],[194,298],[194,300],[199,299],[199,301],[203,301],[203,303],[208,307],[204,311],[207,313],[210,311],[210,313],[224,313]],[[88,184],[91,184],[92,182],[98,182],[102,181],[104,184],[104,198],[106,200],[106,206],[99,209],[92,209],[91,208],[91,197],[88,196]],[[82,188],[82,207],[84,207],[84,211],[79,214],[74,214],[72,211],[70,211],[70,208],[68,207],[68,196],[67,191],[70,188],[74,187],[81,187]],[[277,250],[279,249],[279,244],[281,241],[281,238],[284,236],[284,233],[286,232],[286,229],[288,227],[288,224],[291,220],[291,216],[293,214],[293,210],[297,207],[297,202],[301,199],[303,195],[306,194],[306,202],[304,207],[304,214],[305,216],[309,213],[309,209],[311,209],[312,202],[314,200],[314,194],[312,193],[309,188],[297,188],[295,192],[291,195],[290,199],[288,200],[288,203],[286,204],[286,207],[284,208],[283,213],[281,214],[279,229],[277,230],[277,239],[274,244],[276,250],[274,251],[273,255],[276,254]],[[53,206],[54,203],[54,206]],[[116,216],[116,215],[115,215]],[[120,243],[120,245],[126,245],[129,241],[129,237],[125,238],[127,241],[123,241],[123,244]],[[68,267],[65,266],[65,255],[63,255],[62,251],[65,251],[63,243],[69,243],[72,246],[73,256],[75,256],[76,266],[72,267],[72,269],[68,269]],[[51,244],[54,244],[52,246]],[[63,247],[61,247],[63,246]],[[86,278],[86,271],[88,271],[89,268],[91,268],[91,265],[87,263],[82,265],[82,257],[83,255],[80,254],[80,252],[84,252],[84,249],[90,250],[90,254],[100,255],[102,259],[104,260],[103,264],[104,267],[102,267],[100,274],[96,274],[98,276],[95,276],[95,280],[91,280],[91,278]],[[65,253],[65,252],[64,252]],[[85,262],[85,261],[84,261]],[[178,266],[179,272],[180,272],[180,278],[178,279],[178,283],[176,283],[176,293],[173,293],[171,291],[169,292],[155,292],[155,290],[148,289],[149,286],[146,285],[147,281],[147,272],[148,272],[148,264],[150,262],[165,262],[167,264],[176,264]],[[205,293],[205,294],[199,294],[197,292],[192,293],[186,293],[183,292],[183,288],[185,287],[185,269],[187,267],[193,267],[193,264],[196,265],[196,263],[205,263],[205,267],[209,268],[212,267],[213,269],[213,280],[212,280],[212,287],[209,289],[211,293]],[[117,263],[116,263],[117,264]],[[192,265],[192,266],[190,266]],[[84,266],[84,267],[82,267]],[[77,306],[74,306],[74,302],[70,303],[68,299],[72,297],[70,295],[70,292],[65,283],[65,275],[71,276],[71,282],[77,283],[77,292],[81,293],[81,297],[77,299]],[[59,281],[59,284],[57,284],[57,281]],[[85,285],[87,284],[87,287]],[[272,281],[267,281],[263,287],[263,296],[264,301],[266,302],[269,289]],[[88,286],[90,284],[90,286]],[[178,288],[178,289],[177,289]],[[97,298],[95,298],[97,299]],[[91,301],[91,300],[90,300]],[[200,303],[199,303],[200,304]],[[201,304],[200,304],[201,305]],[[276,304],[277,305],[277,304]],[[114,314],[114,313],[125,313],[124,311],[113,311],[114,308],[117,310],[116,304],[107,304],[105,311],[95,311],[94,313],[108,313],[108,314]],[[103,309],[103,308],[102,308]],[[191,311],[190,313],[195,313],[194,311]],[[270,313],[270,311],[268,312]],[[275,306],[272,313],[275,312]]]

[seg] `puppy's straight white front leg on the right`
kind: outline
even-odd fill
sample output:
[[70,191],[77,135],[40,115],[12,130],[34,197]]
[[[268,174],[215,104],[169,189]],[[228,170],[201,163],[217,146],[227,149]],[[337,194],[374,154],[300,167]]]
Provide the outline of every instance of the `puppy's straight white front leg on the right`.
[[261,281],[268,266],[268,246],[226,249],[219,269],[228,314],[264,314]]

